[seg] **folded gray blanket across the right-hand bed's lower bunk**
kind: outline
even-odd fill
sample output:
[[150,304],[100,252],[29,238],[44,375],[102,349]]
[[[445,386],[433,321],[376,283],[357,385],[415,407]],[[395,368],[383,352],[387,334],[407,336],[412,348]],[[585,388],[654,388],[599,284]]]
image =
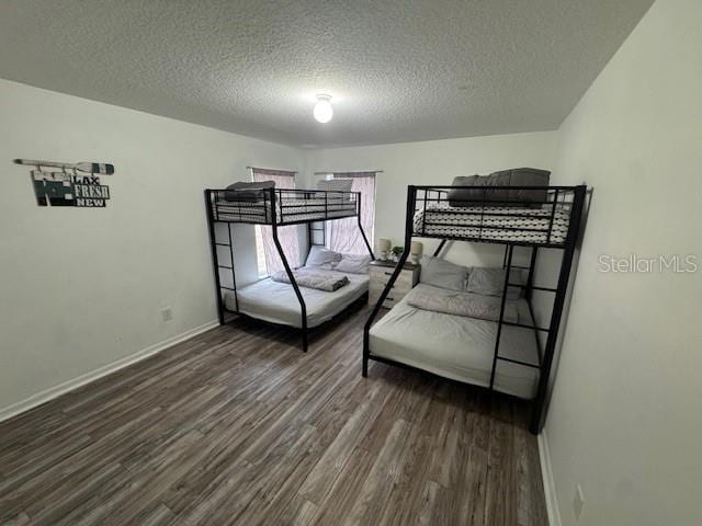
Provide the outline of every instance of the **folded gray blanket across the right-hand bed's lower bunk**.
[[[407,305],[410,307],[488,321],[499,320],[500,302],[501,298],[494,296],[442,289],[429,293],[421,288],[415,288],[407,295]],[[512,301],[505,304],[502,319],[511,323],[519,322],[517,306]]]

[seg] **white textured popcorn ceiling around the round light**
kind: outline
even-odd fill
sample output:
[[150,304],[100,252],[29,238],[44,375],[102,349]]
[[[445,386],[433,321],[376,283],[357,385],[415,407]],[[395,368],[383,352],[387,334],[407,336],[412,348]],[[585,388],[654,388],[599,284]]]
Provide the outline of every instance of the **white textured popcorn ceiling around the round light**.
[[303,147],[535,132],[650,3],[0,0],[0,77]]

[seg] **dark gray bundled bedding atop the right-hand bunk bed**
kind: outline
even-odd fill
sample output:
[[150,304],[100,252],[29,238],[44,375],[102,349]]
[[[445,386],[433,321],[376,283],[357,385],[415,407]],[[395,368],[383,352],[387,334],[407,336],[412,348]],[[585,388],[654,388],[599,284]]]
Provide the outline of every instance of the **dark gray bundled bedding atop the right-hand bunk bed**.
[[[536,168],[514,168],[492,172],[489,175],[458,176],[453,180],[453,186],[482,186],[486,192],[475,188],[455,188],[449,191],[451,206],[479,206],[480,203],[496,203],[500,206],[531,206],[541,207],[546,201],[545,190],[489,190],[490,186],[548,186],[551,172]],[[472,201],[474,203],[466,203]],[[497,202],[518,203],[497,203]]]

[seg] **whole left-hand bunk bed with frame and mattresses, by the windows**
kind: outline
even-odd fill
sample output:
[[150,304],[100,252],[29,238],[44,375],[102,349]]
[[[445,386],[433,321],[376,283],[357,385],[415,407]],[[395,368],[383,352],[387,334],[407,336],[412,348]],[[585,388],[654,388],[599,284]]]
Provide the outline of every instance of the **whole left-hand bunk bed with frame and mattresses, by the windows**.
[[[355,217],[371,259],[373,251],[361,225],[361,193],[322,190],[205,190],[205,206],[212,249],[215,293],[219,323],[226,315],[253,318],[288,325],[302,332],[303,351],[307,351],[309,329],[318,327],[367,295],[367,275],[337,273],[348,285],[333,291],[301,287],[279,239],[278,229],[306,225],[308,248],[326,243],[325,221]],[[237,286],[231,225],[262,225],[271,228],[273,243],[290,283],[270,277]],[[225,227],[224,240],[216,227]]]

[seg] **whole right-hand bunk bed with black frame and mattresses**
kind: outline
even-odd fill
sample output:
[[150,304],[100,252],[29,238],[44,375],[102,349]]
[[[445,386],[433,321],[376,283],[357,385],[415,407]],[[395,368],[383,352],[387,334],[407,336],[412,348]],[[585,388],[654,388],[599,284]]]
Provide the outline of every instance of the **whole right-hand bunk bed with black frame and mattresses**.
[[[363,376],[367,376],[369,361],[373,359],[532,400],[530,431],[541,432],[586,195],[584,185],[409,186],[406,250],[364,325]],[[441,254],[449,241],[505,247],[501,294],[495,298],[494,318],[478,319],[416,307],[414,299],[420,295],[437,298],[445,293],[422,284],[420,277],[420,284],[375,322],[407,261],[407,249],[415,237],[441,240],[434,256]],[[534,284],[541,249],[561,252],[555,287]],[[516,250],[526,251],[529,264],[514,263]],[[518,274],[524,279],[516,279]],[[521,293],[514,296],[510,294],[513,290]],[[546,327],[534,321],[534,291],[553,294]],[[513,311],[516,318],[508,317],[508,310]]]

